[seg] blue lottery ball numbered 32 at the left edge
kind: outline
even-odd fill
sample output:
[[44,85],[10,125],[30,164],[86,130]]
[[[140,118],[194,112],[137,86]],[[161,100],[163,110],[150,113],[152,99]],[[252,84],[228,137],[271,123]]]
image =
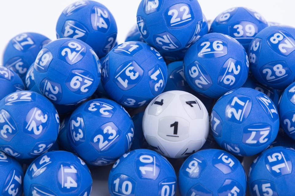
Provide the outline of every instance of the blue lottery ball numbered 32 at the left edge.
[[0,150],[10,156],[31,159],[45,153],[58,129],[53,104],[36,92],[14,92],[0,101]]

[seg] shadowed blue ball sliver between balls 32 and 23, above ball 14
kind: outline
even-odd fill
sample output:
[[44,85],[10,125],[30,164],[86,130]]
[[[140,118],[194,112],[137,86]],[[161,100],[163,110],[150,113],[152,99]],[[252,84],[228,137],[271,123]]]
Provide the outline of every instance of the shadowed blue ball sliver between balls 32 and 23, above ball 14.
[[67,116],[61,121],[61,126],[59,127],[59,133],[58,133],[58,144],[61,146],[61,149],[64,149],[68,152],[74,152],[71,148],[71,145],[69,143],[68,137],[67,137],[67,130],[69,128],[69,122],[70,122],[70,116]]

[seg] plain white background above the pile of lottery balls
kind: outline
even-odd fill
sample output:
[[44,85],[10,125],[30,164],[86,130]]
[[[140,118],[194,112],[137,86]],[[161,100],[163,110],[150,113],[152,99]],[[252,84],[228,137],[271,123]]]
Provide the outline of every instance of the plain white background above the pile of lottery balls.
[[[114,15],[118,26],[118,42],[124,42],[130,28],[136,24],[140,0],[96,0]],[[75,0],[1,0],[0,64],[6,43],[22,32],[38,32],[56,39],[55,25],[63,9]],[[214,19],[220,12],[236,6],[258,11],[267,21],[295,26],[294,4],[290,0],[199,0],[206,18]]]

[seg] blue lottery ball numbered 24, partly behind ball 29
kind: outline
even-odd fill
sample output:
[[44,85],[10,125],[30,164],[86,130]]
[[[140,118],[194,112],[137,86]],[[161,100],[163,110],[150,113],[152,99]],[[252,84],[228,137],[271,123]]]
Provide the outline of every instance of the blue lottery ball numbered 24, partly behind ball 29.
[[77,1],[64,9],[56,25],[57,38],[79,39],[99,58],[116,43],[117,25],[112,13],[99,2]]

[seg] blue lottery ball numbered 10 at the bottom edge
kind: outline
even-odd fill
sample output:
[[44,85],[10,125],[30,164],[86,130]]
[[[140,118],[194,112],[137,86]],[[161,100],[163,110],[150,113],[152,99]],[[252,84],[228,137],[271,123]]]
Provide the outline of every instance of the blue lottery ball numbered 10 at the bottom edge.
[[120,157],[108,176],[108,191],[117,195],[175,195],[177,178],[166,158],[148,149],[130,151]]

